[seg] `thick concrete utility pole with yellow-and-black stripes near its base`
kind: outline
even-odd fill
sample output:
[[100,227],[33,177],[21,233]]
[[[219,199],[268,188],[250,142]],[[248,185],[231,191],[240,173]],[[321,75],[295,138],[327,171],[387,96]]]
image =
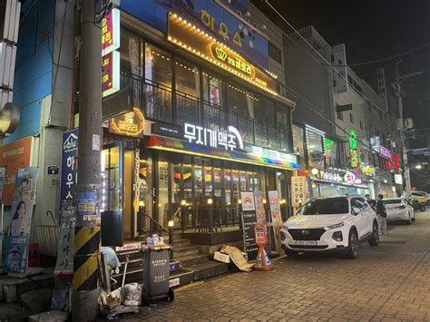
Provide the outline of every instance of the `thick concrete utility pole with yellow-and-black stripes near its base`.
[[93,320],[100,295],[100,188],[102,132],[102,31],[96,0],[82,1],[79,91],[79,167],[73,247],[73,321]]

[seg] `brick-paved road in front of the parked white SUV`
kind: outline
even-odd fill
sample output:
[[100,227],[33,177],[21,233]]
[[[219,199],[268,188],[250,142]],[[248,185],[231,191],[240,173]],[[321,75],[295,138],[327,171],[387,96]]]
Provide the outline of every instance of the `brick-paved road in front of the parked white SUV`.
[[358,259],[279,259],[273,271],[211,278],[127,320],[430,321],[429,251],[430,211],[418,212]]

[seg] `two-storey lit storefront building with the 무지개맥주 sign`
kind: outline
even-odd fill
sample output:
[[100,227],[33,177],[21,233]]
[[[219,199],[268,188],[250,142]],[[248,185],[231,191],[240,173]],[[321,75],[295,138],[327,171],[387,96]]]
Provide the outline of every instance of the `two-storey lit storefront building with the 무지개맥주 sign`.
[[239,191],[288,200],[300,169],[265,35],[223,2],[178,3],[121,5],[119,89],[133,111],[105,125],[103,210],[122,211],[129,239],[169,220],[238,227]]

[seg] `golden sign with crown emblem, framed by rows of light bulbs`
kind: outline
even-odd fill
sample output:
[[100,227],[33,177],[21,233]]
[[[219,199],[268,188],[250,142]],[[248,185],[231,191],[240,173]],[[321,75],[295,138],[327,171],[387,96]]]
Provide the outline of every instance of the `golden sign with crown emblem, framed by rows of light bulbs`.
[[278,95],[276,82],[269,74],[264,73],[230,47],[221,44],[213,36],[207,34],[205,30],[177,14],[169,13],[167,39],[172,44],[237,75],[262,90]]

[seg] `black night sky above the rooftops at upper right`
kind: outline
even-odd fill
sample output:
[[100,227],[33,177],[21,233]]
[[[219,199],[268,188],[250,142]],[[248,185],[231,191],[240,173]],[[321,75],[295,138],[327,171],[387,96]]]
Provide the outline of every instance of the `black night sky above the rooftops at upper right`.
[[[279,26],[286,26],[265,1],[253,0]],[[346,44],[347,63],[363,63],[430,43],[429,0],[269,0],[296,29],[312,24],[328,44]],[[287,32],[291,30],[285,28]],[[406,82],[404,106],[416,128],[430,127],[430,44],[402,55],[399,73],[425,72]],[[352,67],[363,79],[375,79],[384,67],[387,85],[393,82],[393,58],[383,63]]]

